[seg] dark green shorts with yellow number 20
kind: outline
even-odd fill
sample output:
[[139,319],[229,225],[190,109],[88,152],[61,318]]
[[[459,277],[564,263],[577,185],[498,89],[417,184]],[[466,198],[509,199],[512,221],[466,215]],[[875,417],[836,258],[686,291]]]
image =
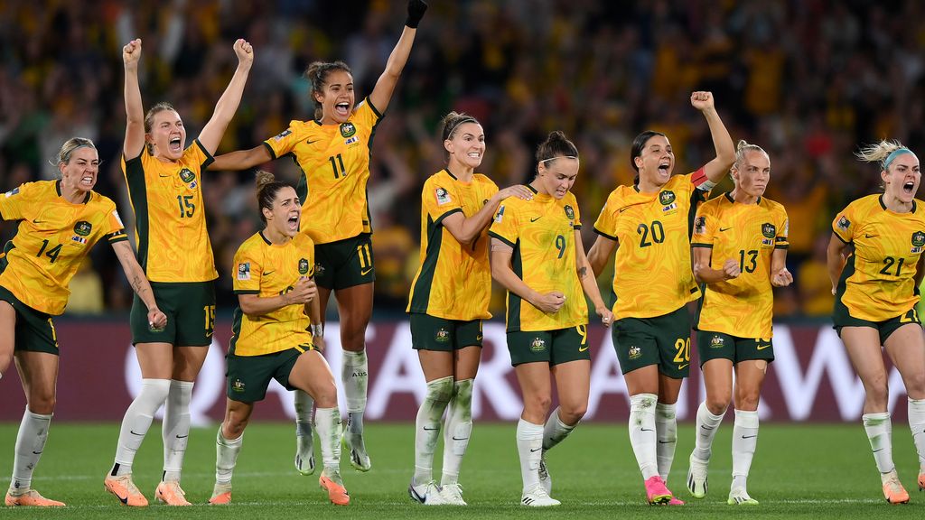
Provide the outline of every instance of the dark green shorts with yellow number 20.
[[611,327],[611,338],[623,374],[648,365],[659,365],[659,372],[669,378],[690,374],[691,316],[687,307],[663,316],[618,319]]

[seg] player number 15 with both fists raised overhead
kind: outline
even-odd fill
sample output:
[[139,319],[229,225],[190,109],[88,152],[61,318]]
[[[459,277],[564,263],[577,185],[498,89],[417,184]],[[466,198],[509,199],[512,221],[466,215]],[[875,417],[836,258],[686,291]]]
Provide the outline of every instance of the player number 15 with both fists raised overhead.
[[138,85],[142,41],[122,48],[128,116],[122,171],[135,209],[138,257],[158,305],[170,317],[167,328],[148,328],[141,302],[136,298],[132,303],[131,335],[142,367],[142,391],[122,420],[116,462],[105,477],[105,489],[126,505],[148,505],[131,480],[131,464],[165,401],[164,473],[154,494],[169,505],[190,505],[179,487],[180,468],[190,435],[193,381],[212,343],[218,276],[205,229],[202,171],[238,109],[253,64],[250,43],[238,40],[234,52],[238,69],[199,138],[184,150],[186,129],[173,106],[158,103],[144,114]]

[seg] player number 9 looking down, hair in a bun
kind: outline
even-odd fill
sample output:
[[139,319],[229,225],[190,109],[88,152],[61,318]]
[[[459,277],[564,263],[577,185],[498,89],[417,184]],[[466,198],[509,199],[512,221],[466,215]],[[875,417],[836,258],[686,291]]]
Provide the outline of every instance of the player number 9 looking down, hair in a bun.
[[[505,199],[488,234],[491,274],[508,290],[508,350],[524,395],[517,423],[521,503],[542,507],[560,504],[549,497],[546,452],[572,433],[587,409],[591,353],[585,294],[605,327],[613,315],[587,264],[578,203],[569,192],[578,176],[578,150],[554,131],[539,145],[536,161],[536,178],[528,186],[533,199]],[[560,405],[547,419],[550,374]]]

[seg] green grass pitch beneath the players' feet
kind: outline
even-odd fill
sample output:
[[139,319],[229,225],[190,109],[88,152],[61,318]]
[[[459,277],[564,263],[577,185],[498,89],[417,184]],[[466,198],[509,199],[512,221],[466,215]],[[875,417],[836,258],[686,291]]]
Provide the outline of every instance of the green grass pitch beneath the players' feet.
[[[8,483],[16,424],[0,425],[4,448],[2,471]],[[216,426],[217,427],[217,426]],[[407,495],[413,470],[413,425],[373,424],[367,446],[373,470],[355,472],[344,459],[342,475],[351,492],[351,505],[339,508],[314,477],[298,475],[292,466],[294,427],[254,423],[244,436],[234,477],[234,502],[209,506],[214,482],[216,427],[191,432],[183,488],[197,504],[170,508],[152,503],[144,509],[121,506],[103,489],[103,477],[115,452],[117,424],[54,424],[33,487],[66,501],[55,510],[0,509],[0,518],[874,518],[925,515],[925,493],[919,493],[919,469],[905,423],[894,425],[894,459],[912,501],[891,506],[882,500],[880,479],[860,424],[833,426],[761,426],[758,453],[748,489],[761,503],[745,509],[726,505],[731,480],[730,434],[727,417],[714,444],[709,495],[690,499],[685,489],[687,457],[694,444],[693,426],[679,427],[678,450],[669,487],[688,501],[684,507],[645,504],[641,477],[629,446],[625,425],[586,424],[549,452],[553,497],[557,508],[536,510],[519,505],[521,479],[511,424],[475,424],[473,440],[462,464],[463,497],[467,507],[426,507]],[[315,442],[320,466],[320,450]],[[436,457],[439,467],[440,454]],[[160,427],[155,424],[134,464],[135,482],[153,500],[161,473]],[[320,468],[319,468],[320,470]],[[436,474],[439,477],[439,473]],[[688,500],[690,499],[690,500]],[[743,516],[745,515],[745,516]]]

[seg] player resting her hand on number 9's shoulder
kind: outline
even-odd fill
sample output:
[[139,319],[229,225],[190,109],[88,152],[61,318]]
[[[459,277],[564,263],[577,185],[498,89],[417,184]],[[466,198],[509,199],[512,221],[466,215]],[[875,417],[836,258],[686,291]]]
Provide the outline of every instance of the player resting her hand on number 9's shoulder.
[[[475,168],[485,155],[485,131],[466,114],[443,118],[447,167],[430,176],[421,192],[421,266],[408,308],[413,348],[418,351],[427,393],[417,412],[414,476],[408,493],[427,505],[465,505],[459,485],[462,455],[472,432],[472,388],[482,353],[482,320],[490,318],[491,267],[484,232],[500,202],[533,198],[525,186],[499,191]],[[433,479],[440,422],[443,477]]]

